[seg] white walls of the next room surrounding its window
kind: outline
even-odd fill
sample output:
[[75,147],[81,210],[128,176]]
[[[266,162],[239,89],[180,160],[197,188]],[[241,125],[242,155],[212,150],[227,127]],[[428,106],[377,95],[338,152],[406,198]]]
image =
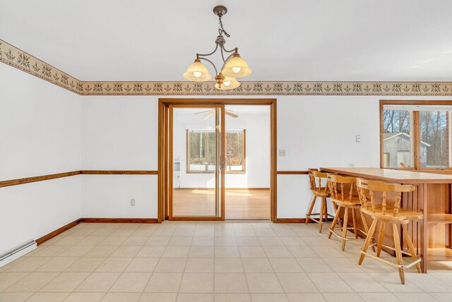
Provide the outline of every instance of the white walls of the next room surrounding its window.
[[[244,108],[246,107],[246,108]],[[234,106],[237,118],[226,116],[226,129],[246,129],[246,173],[226,174],[226,188],[269,188],[270,186],[270,109],[268,106]],[[259,107],[259,108],[258,108]],[[226,108],[227,109],[227,108]],[[215,174],[186,173],[186,130],[212,130],[215,119],[204,120],[206,114],[195,114],[206,109],[174,109],[173,157],[180,157],[181,188],[214,188]],[[177,187],[174,176],[174,187]]]

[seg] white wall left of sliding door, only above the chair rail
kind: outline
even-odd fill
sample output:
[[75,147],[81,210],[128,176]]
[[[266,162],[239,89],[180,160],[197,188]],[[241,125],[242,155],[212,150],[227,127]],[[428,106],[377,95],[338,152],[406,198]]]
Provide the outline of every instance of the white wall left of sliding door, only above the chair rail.
[[157,170],[155,97],[81,97],[83,170]]

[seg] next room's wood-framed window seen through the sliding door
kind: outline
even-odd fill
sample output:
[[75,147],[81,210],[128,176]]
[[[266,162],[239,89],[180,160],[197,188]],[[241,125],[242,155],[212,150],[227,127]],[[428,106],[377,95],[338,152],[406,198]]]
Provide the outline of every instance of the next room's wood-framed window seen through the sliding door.
[[[187,173],[215,173],[215,132],[187,130]],[[245,129],[226,131],[226,173],[245,173]]]

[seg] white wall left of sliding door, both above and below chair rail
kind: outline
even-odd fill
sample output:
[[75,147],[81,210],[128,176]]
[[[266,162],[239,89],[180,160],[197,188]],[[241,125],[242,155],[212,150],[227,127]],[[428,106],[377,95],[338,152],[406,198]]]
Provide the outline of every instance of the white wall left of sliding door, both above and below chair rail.
[[[83,170],[157,170],[156,97],[81,102]],[[157,218],[157,175],[82,175],[81,196],[83,217]]]

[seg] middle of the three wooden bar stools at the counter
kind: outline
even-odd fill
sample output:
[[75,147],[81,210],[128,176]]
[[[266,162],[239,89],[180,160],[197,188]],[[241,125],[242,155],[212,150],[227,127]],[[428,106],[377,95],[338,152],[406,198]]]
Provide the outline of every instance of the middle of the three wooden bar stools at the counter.
[[[345,242],[350,239],[358,239],[358,233],[361,232],[364,236],[367,236],[367,231],[369,231],[367,227],[367,222],[364,217],[364,214],[359,211],[361,207],[361,203],[359,202],[359,195],[356,189],[356,179],[355,177],[347,177],[340,176],[337,174],[329,174],[328,173],[328,185],[330,186],[330,194],[331,201],[336,203],[338,209],[336,210],[336,215],[333,219],[333,223],[331,224],[330,234],[328,234],[328,238],[331,238],[331,235],[335,234],[338,238],[342,240],[342,250],[345,250]],[[335,226],[338,222],[340,210],[344,209],[344,219],[343,219],[343,229],[342,235],[339,235],[334,231]],[[364,226],[364,231],[358,228],[357,225],[357,211],[361,215],[362,224]],[[348,227],[348,217],[352,215],[353,219],[353,227]],[[355,238],[347,238],[347,232],[353,231],[355,234]]]

